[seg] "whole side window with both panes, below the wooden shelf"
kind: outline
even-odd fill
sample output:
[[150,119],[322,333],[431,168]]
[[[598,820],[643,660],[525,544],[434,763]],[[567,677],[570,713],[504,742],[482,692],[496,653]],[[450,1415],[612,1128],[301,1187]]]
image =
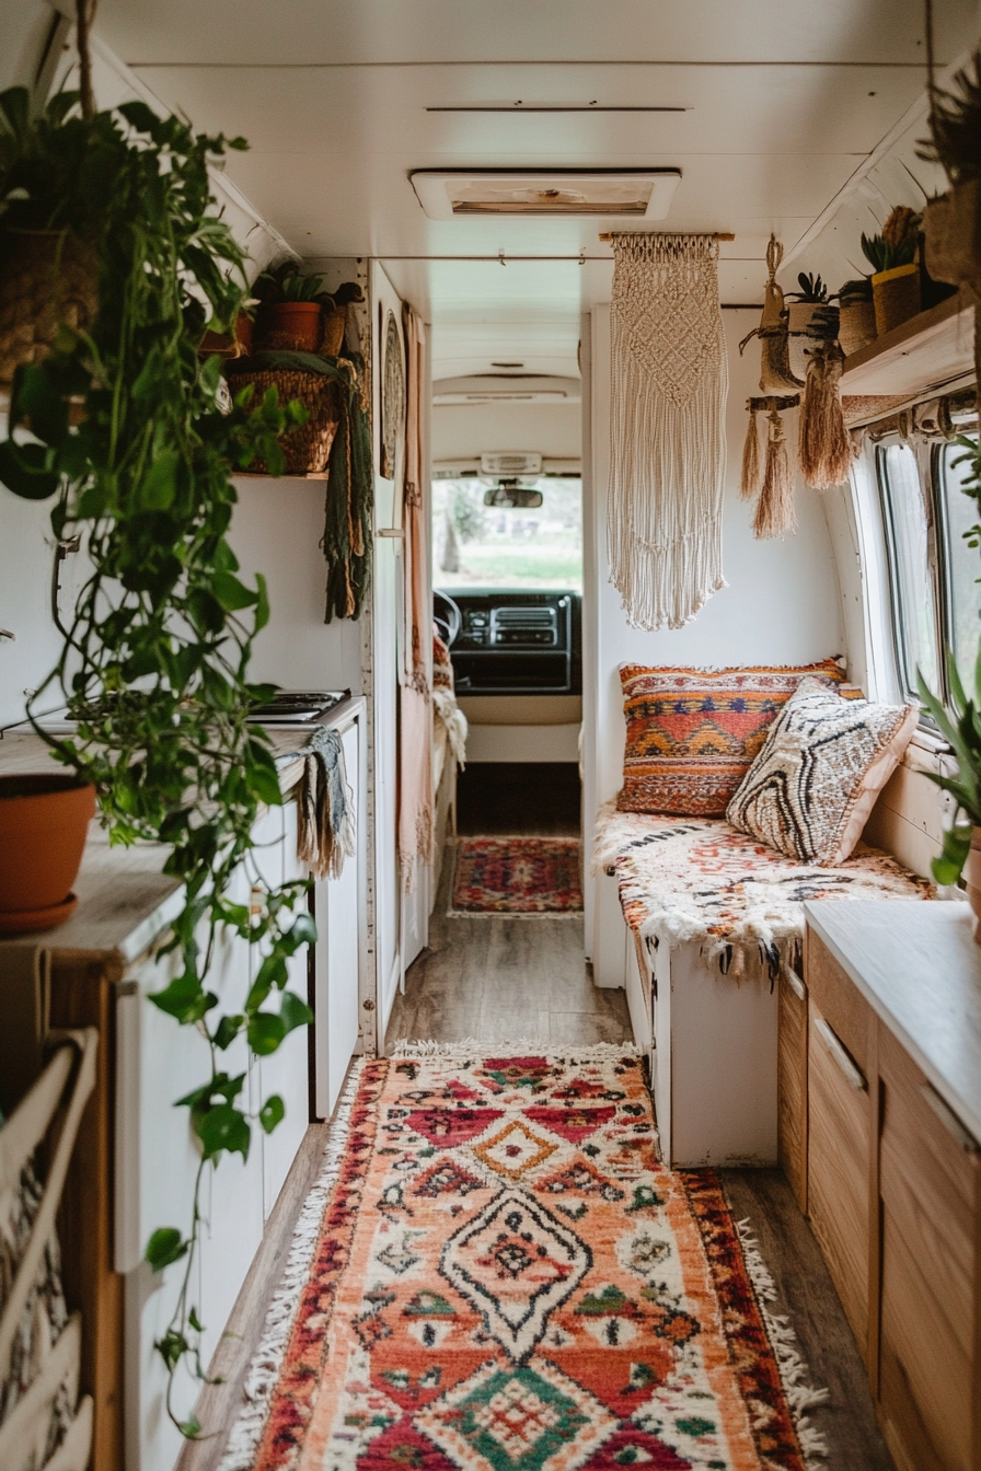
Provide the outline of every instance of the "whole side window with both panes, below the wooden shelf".
[[950,703],[944,653],[974,691],[981,637],[981,556],[965,540],[978,505],[963,493],[963,446],[935,440],[930,455],[890,440],[875,465],[888,552],[893,630],[900,683],[916,699],[916,671]]

